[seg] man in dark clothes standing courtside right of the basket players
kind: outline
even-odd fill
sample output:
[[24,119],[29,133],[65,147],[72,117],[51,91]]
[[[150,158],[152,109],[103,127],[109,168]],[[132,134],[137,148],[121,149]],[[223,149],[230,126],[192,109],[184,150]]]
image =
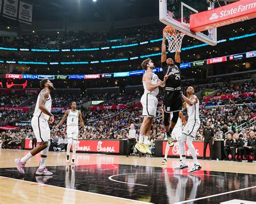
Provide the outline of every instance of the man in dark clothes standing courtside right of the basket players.
[[209,147],[210,147],[209,160],[212,160],[212,145],[214,144],[214,132],[213,132],[213,128],[210,127],[210,122],[206,123],[206,128],[204,128],[202,135],[203,135],[203,138],[205,138],[204,139],[204,157],[202,159],[205,159],[207,145],[209,144]]

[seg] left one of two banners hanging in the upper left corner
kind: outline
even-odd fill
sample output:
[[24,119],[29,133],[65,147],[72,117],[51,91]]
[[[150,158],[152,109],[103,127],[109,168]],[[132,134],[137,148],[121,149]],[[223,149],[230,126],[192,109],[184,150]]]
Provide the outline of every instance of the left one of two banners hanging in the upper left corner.
[[18,0],[4,0],[3,16],[17,20]]

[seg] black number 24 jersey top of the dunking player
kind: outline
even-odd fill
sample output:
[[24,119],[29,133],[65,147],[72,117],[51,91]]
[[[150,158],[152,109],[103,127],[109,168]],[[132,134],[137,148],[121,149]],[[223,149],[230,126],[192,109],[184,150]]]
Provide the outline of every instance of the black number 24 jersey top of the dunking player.
[[180,63],[175,62],[173,66],[167,65],[166,62],[161,63],[164,75],[169,75],[169,78],[165,82],[166,90],[180,89],[181,86],[181,73]]

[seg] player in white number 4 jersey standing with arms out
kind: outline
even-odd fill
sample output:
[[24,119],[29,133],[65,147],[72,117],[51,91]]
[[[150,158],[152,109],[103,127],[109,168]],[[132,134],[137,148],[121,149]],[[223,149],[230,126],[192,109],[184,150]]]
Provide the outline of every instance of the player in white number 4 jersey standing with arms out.
[[70,148],[73,141],[73,154],[72,154],[72,161],[71,164],[75,164],[75,157],[76,157],[76,148],[77,148],[77,140],[78,140],[78,120],[80,121],[84,131],[85,126],[82,118],[81,111],[77,110],[77,104],[75,101],[71,102],[71,109],[66,110],[62,120],[55,126],[58,130],[59,125],[62,125],[66,119],[66,134],[68,135],[68,147],[66,151],[66,162],[69,162],[70,157]]

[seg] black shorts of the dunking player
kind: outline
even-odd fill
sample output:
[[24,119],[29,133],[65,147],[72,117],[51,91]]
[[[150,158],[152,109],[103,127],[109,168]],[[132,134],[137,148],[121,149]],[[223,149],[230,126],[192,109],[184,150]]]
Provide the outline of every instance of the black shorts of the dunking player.
[[182,111],[181,90],[165,90],[164,92],[164,111],[177,112]]

